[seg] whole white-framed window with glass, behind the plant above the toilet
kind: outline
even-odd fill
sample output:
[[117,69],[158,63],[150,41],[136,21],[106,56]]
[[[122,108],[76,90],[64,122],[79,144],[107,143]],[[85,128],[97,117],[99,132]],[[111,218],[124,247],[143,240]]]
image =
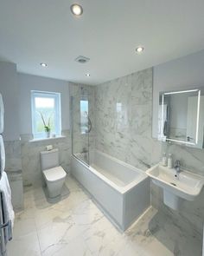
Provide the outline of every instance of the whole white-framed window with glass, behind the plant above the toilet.
[[61,94],[31,91],[32,129],[35,139],[61,135]]

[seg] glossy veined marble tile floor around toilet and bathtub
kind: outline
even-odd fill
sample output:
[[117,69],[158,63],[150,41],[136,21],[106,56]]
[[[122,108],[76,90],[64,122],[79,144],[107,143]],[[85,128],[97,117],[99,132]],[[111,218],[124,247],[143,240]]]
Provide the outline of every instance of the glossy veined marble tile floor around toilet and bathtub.
[[120,233],[77,181],[68,177],[66,186],[55,202],[41,187],[26,188],[8,256],[201,256],[201,237],[153,207]]

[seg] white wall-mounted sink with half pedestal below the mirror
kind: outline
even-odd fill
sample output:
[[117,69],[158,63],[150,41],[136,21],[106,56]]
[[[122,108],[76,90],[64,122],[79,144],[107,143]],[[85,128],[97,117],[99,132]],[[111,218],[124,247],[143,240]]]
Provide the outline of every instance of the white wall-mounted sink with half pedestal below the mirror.
[[177,210],[182,200],[195,200],[201,193],[204,177],[182,170],[176,175],[175,169],[157,164],[146,171],[151,180],[163,187],[163,202]]

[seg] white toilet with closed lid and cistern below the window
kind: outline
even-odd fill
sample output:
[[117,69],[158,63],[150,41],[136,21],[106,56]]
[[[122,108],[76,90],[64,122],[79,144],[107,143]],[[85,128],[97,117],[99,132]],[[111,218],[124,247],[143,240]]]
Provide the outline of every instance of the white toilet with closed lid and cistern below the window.
[[48,188],[48,196],[54,198],[61,195],[67,173],[59,166],[58,148],[41,152],[41,171]]

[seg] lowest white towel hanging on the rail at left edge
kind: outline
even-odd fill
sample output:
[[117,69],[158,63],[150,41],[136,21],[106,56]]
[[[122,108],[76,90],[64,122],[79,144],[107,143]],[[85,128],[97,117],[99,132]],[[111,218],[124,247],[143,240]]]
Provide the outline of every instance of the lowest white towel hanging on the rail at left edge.
[[3,200],[3,222],[6,223],[10,220],[10,225],[5,228],[4,232],[5,242],[7,242],[10,240],[10,234],[12,233],[12,228],[14,226],[15,214],[11,203],[10,182],[5,172],[3,172],[2,179],[0,180],[0,192],[2,193]]

